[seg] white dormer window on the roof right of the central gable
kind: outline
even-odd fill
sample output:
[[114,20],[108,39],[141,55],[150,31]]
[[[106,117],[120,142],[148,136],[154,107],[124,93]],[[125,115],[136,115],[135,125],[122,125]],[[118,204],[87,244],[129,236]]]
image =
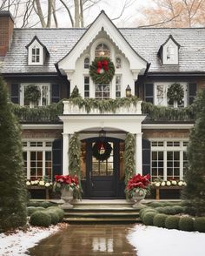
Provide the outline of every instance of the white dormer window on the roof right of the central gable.
[[180,44],[178,44],[174,37],[170,35],[167,41],[161,45],[158,52],[162,64],[178,64],[179,48]]

